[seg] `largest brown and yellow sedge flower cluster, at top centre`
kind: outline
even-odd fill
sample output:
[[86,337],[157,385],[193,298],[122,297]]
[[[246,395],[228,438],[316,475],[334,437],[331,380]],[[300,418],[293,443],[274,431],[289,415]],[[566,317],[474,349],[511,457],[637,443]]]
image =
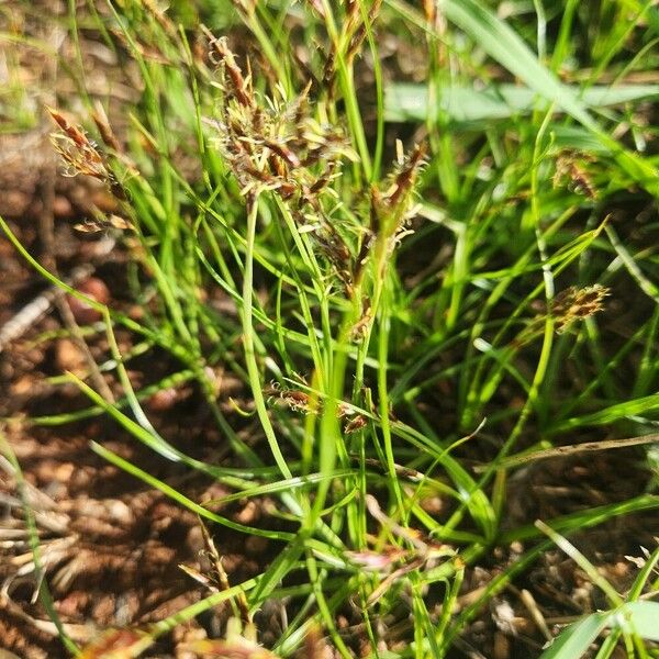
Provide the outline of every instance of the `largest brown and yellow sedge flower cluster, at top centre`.
[[343,161],[356,159],[356,154],[338,129],[313,116],[310,85],[292,101],[284,100],[281,88],[273,98],[261,96],[254,90],[249,64],[243,72],[226,40],[206,36],[223,91],[217,118],[208,123],[216,130],[216,144],[242,194],[254,199],[264,191],[276,193],[298,227],[313,234],[348,289],[351,253],[323,199],[336,203],[331,183],[340,176]]

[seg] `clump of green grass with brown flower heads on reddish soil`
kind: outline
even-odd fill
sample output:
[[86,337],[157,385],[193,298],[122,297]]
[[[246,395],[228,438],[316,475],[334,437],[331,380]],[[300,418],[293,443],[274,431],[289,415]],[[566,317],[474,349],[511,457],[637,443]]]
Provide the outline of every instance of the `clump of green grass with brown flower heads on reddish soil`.
[[[193,501],[108,447],[93,449],[223,533],[278,547],[258,577],[213,582],[210,595],[131,643],[142,649],[232,601],[250,622],[265,603],[288,597],[277,656],[317,635],[342,657],[450,656],[473,644],[473,619],[557,541],[544,539],[548,527],[567,536],[656,510],[644,482],[622,501],[566,506],[540,527],[515,517],[509,499],[516,479],[533,491],[524,468],[534,456],[556,457],[582,439],[613,447],[656,425],[654,252],[634,232],[623,244],[612,226],[616,213],[641,204],[652,220],[638,231],[656,230],[656,163],[638,148],[641,134],[645,144],[656,136],[632,101],[657,90],[628,90],[632,101],[607,110],[587,96],[604,71],[624,79],[645,64],[624,51],[649,43],[645,10],[613,40],[577,35],[590,10],[574,2],[549,16],[538,4],[533,20],[511,24],[472,0],[447,2],[445,16],[432,2],[420,13],[398,0],[227,5],[226,20],[256,44],[249,58],[212,23],[203,38],[197,30],[196,47],[153,3],[109,7],[99,26],[137,63],[142,102],[121,141],[97,110],[105,153],[54,112],[56,143],[70,166],[120,199],[125,224],[110,231],[133,245],[155,302],[139,321],[98,305],[123,398],[107,401],[77,383],[93,404],[87,414],[109,414],[160,456],[235,493]],[[554,44],[540,30],[547,21]],[[384,37],[426,57],[426,83],[384,94],[382,68],[393,77],[400,64],[392,54],[380,62]],[[323,47],[306,45],[314,42]],[[655,59],[647,54],[648,68]],[[587,76],[582,96],[556,75],[574,66],[563,77]],[[493,103],[474,78],[514,81],[526,96],[502,87],[506,102]],[[422,125],[387,126],[386,116]],[[391,174],[381,175],[386,154]],[[186,158],[196,177],[186,176]],[[235,313],[209,302],[217,291]],[[622,302],[637,295],[633,309]],[[141,403],[153,388],[133,389],[118,326],[146,350],[169,353],[181,365],[172,377],[198,384],[230,466],[192,458],[156,432]],[[217,367],[244,383],[249,409],[222,406]],[[249,440],[237,429],[245,423]],[[265,495],[276,499],[283,530],[214,512]],[[532,515],[544,516],[536,503]],[[515,560],[479,583],[478,571],[507,546]],[[597,634],[606,621],[595,621]],[[513,643],[516,629],[506,629]],[[230,636],[199,651],[271,656],[252,637]],[[626,640],[643,656],[638,635]],[[493,641],[483,643],[491,651]],[[524,647],[538,655],[534,644]]]

